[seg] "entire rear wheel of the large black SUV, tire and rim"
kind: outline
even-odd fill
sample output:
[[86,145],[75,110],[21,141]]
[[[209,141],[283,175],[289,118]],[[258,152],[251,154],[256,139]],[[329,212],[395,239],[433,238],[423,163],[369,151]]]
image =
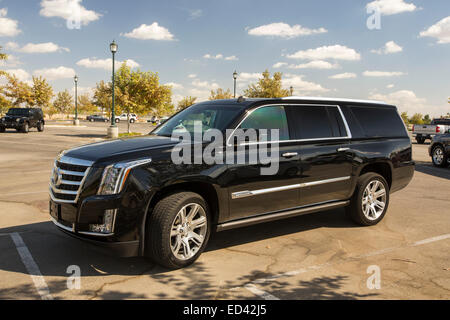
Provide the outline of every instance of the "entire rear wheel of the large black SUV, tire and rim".
[[369,172],[358,178],[355,193],[346,211],[357,224],[373,226],[383,220],[388,206],[388,183],[381,175]]

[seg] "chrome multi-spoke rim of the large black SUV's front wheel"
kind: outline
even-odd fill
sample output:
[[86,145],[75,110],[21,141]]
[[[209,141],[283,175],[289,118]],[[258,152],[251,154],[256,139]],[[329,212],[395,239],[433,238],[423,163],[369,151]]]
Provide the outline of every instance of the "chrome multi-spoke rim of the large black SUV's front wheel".
[[188,260],[195,256],[205,241],[207,223],[201,205],[190,203],[181,208],[170,231],[170,248],[176,258]]

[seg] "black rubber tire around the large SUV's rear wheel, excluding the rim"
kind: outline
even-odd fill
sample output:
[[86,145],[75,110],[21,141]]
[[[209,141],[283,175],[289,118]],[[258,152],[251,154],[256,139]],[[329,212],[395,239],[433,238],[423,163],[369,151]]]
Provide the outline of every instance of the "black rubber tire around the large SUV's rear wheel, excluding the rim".
[[[385,206],[381,215],[376,219],[368,219],[363,212],[363,198],[367,186],[373,181],[379,181],[385,189]],[[373,226],[383,220],[389,207],[389,184],[381,175],[369,172],[361,175],[356,184],[355,193],[350,199],[350,205],[346,208],[346,213],[356,224],[361,226]]]

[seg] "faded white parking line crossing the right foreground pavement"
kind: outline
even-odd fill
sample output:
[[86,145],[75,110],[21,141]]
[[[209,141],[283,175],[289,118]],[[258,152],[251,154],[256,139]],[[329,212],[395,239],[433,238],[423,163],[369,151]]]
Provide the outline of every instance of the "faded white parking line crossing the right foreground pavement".
[[[256,279],[253,280],[252,282],[249,282],[247,284],[245,284],[243,286],[243,288],[247,289],[248,291],[252,292],[253,294],[264,298],[265,300],[279,300],[279,298],[275,297],[274,295],[263,291],[259,288],[257,288],[255,286],[255,284],[263,284],[266,282],[270,282],[270,281],[274,281],[276,279],[279,278],[284,278],[284,277],[292,277],[292,276],[296,276],[299,275],[301,273],[306,273],[309,271],[314,271],[314,270],[319,270],[319,269],[323,269],[325,267],[330,267],[330,266],[334,266],[334,265],[338,265],[341,263],[345,263],[345,262],[349,262],[352,260],[358,260],[358,259],[363,259],[363,258],[368,258],[368,257],[373,257],[373,256],[377,256],[380,254],[385,254],[385,253],[389,253],[398,249],[402,249],[402,248],[407,248],[407,247],[418,247],[421,245],[425,245],[425,244],[429,244],[429,243],[433,243],[433,242],[437,242],[437,241],[442,241],[442,240],[446,240],[446,239],[450,239],[450,233],[449,234],[443,234],[440,236],[436,236],[436,237],[431,237],[431,238],[427,238],[427,239],[423,239],[423,240],[419,240],[419,241],[415,241],[415,242],[411,242],[408,243],[406,245],[403,246],[398,246],[398,247],[391,247],[391,248],[385,248],[385,249],[381,249],[381,250],[376,250],[376,251],[372,251],[372,252],[368,252],[365,254],[361,254],[361,255],[356,255],[356,256],[350,256],[346,259],[343,259],[341,261],[337,261],[337,262],[327,262],[327,263],[323,263],[323,264],[319,264],[319,265],[313,265],[313,266],[309,266],[309,267],[305,267],[305,268],[301,268],[301,269],[297,269],[297,270],[293,270],[293,271],[288,271],[288,272],[283,272],[283,273],[279,273],[267,278],[260,278],[260,279]],[[242,287],[234,287],[231,288],[231,290],[236,290]]]

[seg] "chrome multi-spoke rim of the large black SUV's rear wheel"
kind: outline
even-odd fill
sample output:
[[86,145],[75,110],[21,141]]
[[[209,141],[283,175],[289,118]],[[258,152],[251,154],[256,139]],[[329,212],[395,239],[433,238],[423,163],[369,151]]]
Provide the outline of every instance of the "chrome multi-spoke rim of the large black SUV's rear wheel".
[[362,197],[362,209],[364,216],[371,220],[377,220],[386,207],[386,189],[381,181],[371,181]]

